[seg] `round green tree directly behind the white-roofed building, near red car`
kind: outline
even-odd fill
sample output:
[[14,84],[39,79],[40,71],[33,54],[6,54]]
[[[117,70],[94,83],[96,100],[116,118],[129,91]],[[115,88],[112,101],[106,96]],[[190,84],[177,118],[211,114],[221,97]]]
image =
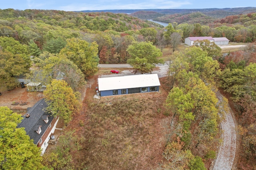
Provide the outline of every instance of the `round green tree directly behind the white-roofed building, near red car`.
[[162,63],[162,60],[158,59],[162,55],[160,49],[150,42],[133,43],[127,51],[131,56],[127,63],[140,74],[151,72],[157,63]]

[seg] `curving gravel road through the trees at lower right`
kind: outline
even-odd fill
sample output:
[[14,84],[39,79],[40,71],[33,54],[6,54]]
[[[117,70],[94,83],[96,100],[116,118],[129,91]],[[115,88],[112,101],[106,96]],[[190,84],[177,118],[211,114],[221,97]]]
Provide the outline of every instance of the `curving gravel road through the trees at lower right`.
[[[218,103],[222,103],[223,96],[220,92],[216,92],[216,96],[219,100]],[[236,154],[235,123],[231,114],[232,109],[229,106],[228,109],[225,110],[220,106],[220,109],[222,109],[225,114],[225,119],[221,122],[222,144],[212,170],[231,170]]]

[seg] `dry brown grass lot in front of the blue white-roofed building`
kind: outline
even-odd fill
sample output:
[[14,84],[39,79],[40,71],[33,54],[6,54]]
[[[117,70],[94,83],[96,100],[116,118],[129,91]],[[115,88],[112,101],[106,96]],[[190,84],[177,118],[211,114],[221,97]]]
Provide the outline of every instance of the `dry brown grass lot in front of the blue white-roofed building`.
[[98,75],[90,77],[92,88],[80,114],[64,131],[75,131],[83,139],[80,150],[73,150],[75,168],[93,170],[155,169],[163,160],[166,144],[164,103],[166,78],[160,92],[108,96],[95,99]]

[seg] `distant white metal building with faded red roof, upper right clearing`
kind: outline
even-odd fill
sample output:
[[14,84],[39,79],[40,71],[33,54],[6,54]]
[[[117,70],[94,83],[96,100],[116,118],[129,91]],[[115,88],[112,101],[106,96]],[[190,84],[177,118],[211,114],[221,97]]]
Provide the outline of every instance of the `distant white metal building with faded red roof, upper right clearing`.
[[216,45],[228,45],[229,40],[226,37],[218,37],[218,38],[212,38],[212,37],[187,37],[185,38],[185,44],[192,46],[194,44],[194,41],[202,41],[202,40],[209,40],[210,42],[214,42]]

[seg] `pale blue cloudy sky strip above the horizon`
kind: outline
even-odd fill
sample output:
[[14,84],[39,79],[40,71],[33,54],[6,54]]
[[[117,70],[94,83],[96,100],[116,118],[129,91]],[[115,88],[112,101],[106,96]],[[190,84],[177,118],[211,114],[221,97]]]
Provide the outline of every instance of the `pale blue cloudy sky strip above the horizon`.
[[255,0],[1,0],[0,9],[136,10],[256,7]]

